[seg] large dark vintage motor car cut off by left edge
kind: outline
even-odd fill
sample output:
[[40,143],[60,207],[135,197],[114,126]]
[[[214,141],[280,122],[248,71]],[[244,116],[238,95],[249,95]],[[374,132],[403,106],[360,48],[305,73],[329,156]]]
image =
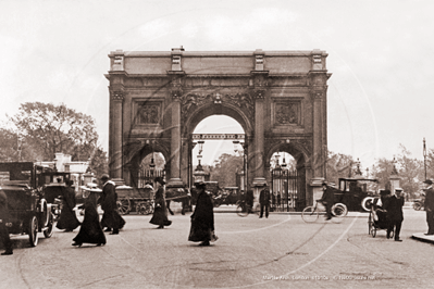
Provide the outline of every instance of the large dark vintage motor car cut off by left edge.
[[51,204],[44,198],[44,167],[32,162],[0,163],[0,190],[8,197],[12,235],[28,235],[32,247],[38,244],[38,233],[53,234]]

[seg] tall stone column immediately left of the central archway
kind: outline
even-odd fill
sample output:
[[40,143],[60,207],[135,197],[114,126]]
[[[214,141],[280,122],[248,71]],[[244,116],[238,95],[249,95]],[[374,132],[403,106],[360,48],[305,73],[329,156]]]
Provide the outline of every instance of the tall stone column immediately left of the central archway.
[[171,178],[166,187],[183,187],[181,179],[181,93],[172,91]]

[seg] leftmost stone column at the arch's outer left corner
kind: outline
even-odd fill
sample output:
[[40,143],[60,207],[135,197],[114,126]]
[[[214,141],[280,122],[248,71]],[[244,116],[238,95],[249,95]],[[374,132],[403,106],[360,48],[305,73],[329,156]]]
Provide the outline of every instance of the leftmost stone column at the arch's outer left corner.
[[123,91],[111,91],[110,130],[109,130],[109,167],[110,177],[122,178],[122,104]]

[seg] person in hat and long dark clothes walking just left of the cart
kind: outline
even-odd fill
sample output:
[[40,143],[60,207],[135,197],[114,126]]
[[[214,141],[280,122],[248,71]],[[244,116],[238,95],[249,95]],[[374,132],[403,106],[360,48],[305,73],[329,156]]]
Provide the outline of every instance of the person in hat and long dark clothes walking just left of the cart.
[[124,218],[117,212],[117,194],[115,184],[110,180],[109,175],[101,176],[102,196],[99,199],[101,209],[104,211],[101,226],[107,227],[106,231],[113,230],[110,235],[117,235],[119,229],[125,225]]

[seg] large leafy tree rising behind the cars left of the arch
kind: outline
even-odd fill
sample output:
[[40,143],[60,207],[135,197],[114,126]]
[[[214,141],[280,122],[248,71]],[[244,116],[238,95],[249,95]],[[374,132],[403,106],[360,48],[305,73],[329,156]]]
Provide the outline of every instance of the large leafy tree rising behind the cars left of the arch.
[[34,154],[41,152],[44,160],[63,152],[71,154],[73,161],[87,161],[97,148],[94,118],[64,104],[26,102],[9,120],[26,143],[38,148]]

